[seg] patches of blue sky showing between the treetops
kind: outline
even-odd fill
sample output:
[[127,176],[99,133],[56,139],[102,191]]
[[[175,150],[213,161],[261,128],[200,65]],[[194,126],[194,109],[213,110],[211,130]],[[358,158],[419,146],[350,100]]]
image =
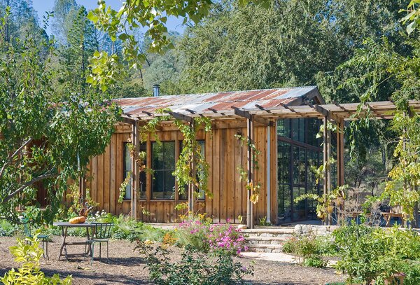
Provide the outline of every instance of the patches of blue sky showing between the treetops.
[[[38,12],[39,20],[42,21],[42,16],[45,15],[45,11],[52,11],[54,2],[55,0],[33,0],[34,9]],[[87,10],[97,7],[97,0],[76,0],[76,2],[79,5],[85,6]],[[122,1],[120,0],[106,0],[106,4],[111,5],[112,8],[116,10],[118,10],[121,7],[121,3]],[[185,27],[181,24],[181,19],[177,19],[174,17],[168,18],[167,27],[170,31],[176,31],[182,34]],[[50,28],[47,29],[47,33],[51,33]]]

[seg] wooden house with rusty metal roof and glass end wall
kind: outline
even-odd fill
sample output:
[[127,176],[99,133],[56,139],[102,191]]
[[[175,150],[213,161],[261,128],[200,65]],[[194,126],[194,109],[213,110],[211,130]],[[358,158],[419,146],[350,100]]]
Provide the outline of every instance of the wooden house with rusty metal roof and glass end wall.
[[[239,223],[238,217],[242,216],[248,224],[262,218],[283,223],[315,217],[314,203],[295,203],[294,198],[303,193],[327,192],[334,181],[338,185],[344,183],[343,134],[332,135],[325,127],[321,144],[321,139],[316,139],[319,126],[332,122],[342,129],[344,119],[351,119],[358,106],[326,105],[316,87],[140,97],[115,102],[124,111],[123,121],[116,125],[105,153],[90,161],[90,179],[84,183],[99,203],[99,210],[132,214],[141,221],[152,222],[174,222],[182,214],[175,206],[187,202],[187,197],[175,191],[172,172],[183,135],[167,121],[160,123],[156,132],[161,145],[151,135],[144,143],[138,143],[139,126],[161,116],[156,110],[169,108],[174,116],[186,121],[197,116],[211,119],[212,132],[200,130],[197,140],[209,163],[208,185],[213,198],[202,197],[195,204],[195,211],[207,213],[214,222]],[[392,102],[371,106],[377,110],[374,116],[381,118],[391,118],[389,110],[395,110]],[[253,181],[260,183],[256,204],[250,205],[246,181],[239,179],[237,167],[246,168],[249,155],[248,146],[241,144],[235,134],[251,139],[260,151],[258,169],[252,173]],[[136,170],[127,147],[130,141],[137,142],[138,150],[146,151],[146,165],[154,174],[134,174],[120,203],[120,185],[128,172]],[[310,167],[323,165],[332,156],[337,167],[326,169],[323,180],[317,184]]]

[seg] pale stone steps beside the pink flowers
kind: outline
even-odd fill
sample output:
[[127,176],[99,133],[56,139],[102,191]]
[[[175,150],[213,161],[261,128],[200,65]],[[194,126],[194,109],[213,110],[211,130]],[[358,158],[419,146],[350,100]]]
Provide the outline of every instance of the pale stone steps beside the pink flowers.
[[293,228],[254,228],[241,230],[248,251],[281,252],[283,242],[293,236]]

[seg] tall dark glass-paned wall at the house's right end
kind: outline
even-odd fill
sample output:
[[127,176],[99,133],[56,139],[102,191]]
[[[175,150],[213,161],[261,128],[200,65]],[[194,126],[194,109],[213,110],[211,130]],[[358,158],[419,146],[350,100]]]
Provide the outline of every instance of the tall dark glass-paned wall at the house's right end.
[[316,217],[316,203],[294,202],[305,193],[319,194],[311,167],[322,164],[321,139],[316,138],[321,120],[314,118],[277,121],[277,179],[279,222]]

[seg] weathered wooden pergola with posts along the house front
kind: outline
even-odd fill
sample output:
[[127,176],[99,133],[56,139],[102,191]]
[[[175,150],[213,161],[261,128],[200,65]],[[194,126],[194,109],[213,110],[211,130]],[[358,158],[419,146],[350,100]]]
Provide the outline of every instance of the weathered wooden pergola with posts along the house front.
[[[291,89],[292,92],[301,92],[300,90]],[[297,90],[297,91],[295,91]],[[255,90],[258,94],[267,92],[267,90]],[[228,92],[227,92],[228,93]],[[254,95],[251,96],[251,99]],[[283,95],[284,96],[284,95]],[[169,96],[167,96],[169,97]],[[152,97],[153,98],[153,97]],[[281,97],[280,97],[281,98]],[[298,98],[298,99],[297,99]],[[188,99],[188,98],[187,98]],[[155,112],[163,106],[171,106],[173,102],[167,102],[160,106],[137,106],[138,108],[126,108],[123,114],[123,123],[132,124],[132,136],[134,138],[134,145],[139,151],[139,134],[138,129],[141,124],[146,123],[158,116],[172,115],[172,117],[183,120],[186,123],[193,125],[194,118],[207,117],[211,120],[218,120],[222,123],[235,122],[238,119],[246,120],[247,137],[250,141],[254,140],[253,127],[254,125],[265,125],[267,128],[274,126],[274,122],[281,118],[318,118],[323,120],[323,165],[328,165],[331,156],[331,137],[332,133],[328,130],[328,123],[337,125],[337,185],[344,185],[344,121],[358,120],[368,116],[371,119],[391,119],[398,112],[397,107],[392,101],[383,102],[369,102],[365,104],[349,103],[338,104],[323,104],[323,99],[320,97],[316,87],[306,88],[303,96],[284,97],[279,99],[254,99],[246,100],[246,104],[238,104],[243,101],[218,102],[217,108],[208,106],[208,104],[179,104],[176,108],[168,113]],[[263,103],[263,104],[262,104]],[[318,103],[318,104],[315,104]],[[301,105],[303,104],[303,105]],[[420,111],[420,101],[410,100],[408,102],[412,112]],[[205,106],[202,106],[205,105]],[[239,105],[239,106],[238,106]],[[124,109],[124,108],[123,108]],[[268,132],[269,133],[269,132]],[[269,139],[267,140],[269,144]],[[268,148],[269,149],[269,148]],[[267,156],[270,154],[267,153]],[[253,149],[248,146],[247,153],[247,172],[248,183],[253,180]],[[137,175],[138,169],[136,163],[133,163],[132,173],[134,195],[132,201],[137,199],[137,189],[139,188],[139,177]],[[324,167],[323,173],[323,193],[328,193],[331,190],[331,168]],[[188,204],[193,207],[192,189],[189,189]],[[251,190],[247,193],[247,226],[253,228],[253,204],[250,201]],[[132,202],[132,213],[137,213],[135,209],[137,203]]]

